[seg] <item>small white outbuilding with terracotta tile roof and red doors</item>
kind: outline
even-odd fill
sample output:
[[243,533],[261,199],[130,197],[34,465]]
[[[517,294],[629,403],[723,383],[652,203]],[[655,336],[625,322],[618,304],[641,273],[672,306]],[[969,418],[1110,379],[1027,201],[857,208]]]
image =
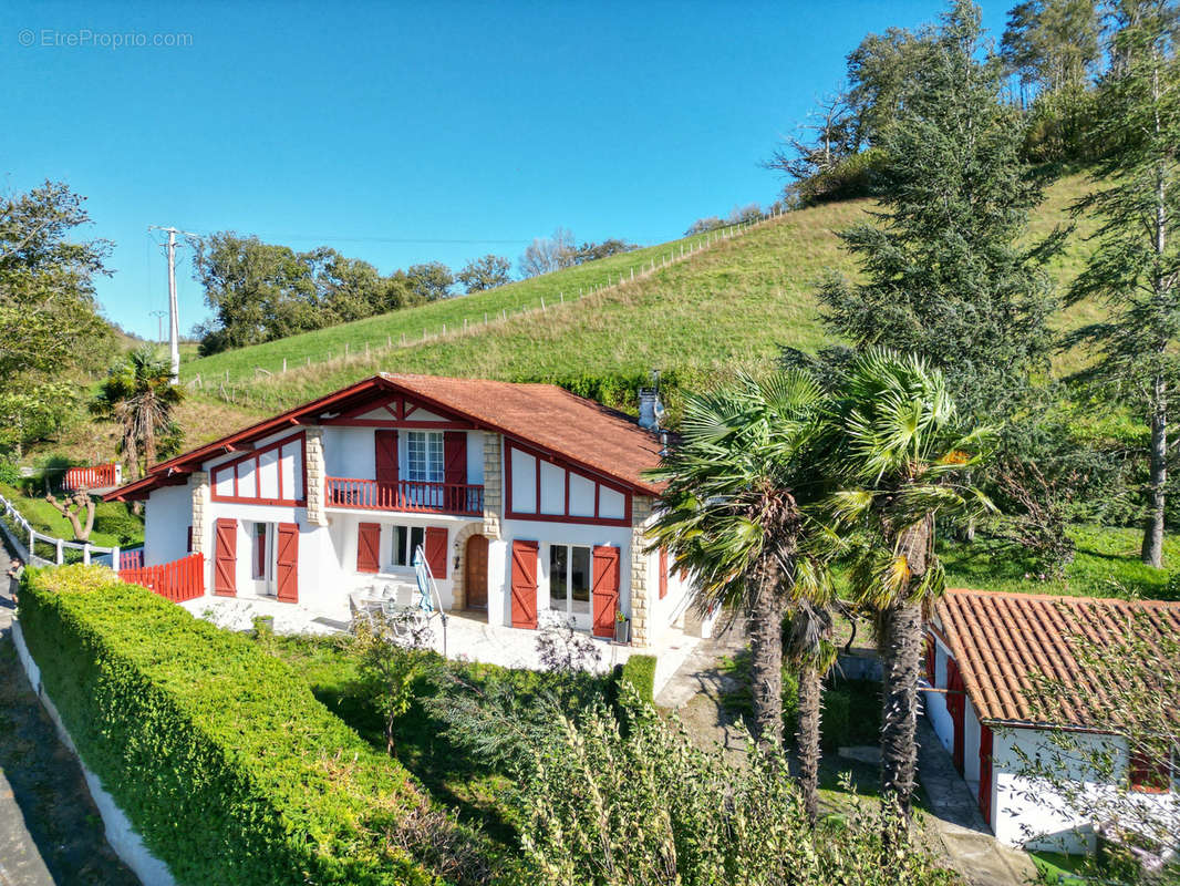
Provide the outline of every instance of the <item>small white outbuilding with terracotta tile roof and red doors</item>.
[[[1073,736],[1073,747],[1112,754],[1112,771],[1120,774],[1122,786],[1149,804],[1143,808],[1153,809],[1153,816],[1180,827],[1180,761],[1162,769],[1139,762],[1109,719],[1102,717],[1100,727],[1095,703],[1088,701],[1096,697],[1089,675],[1075,657],[1079,636],[1109,645],[1141,625],[1180,638],[1180,604],[983,591],[948,591],[936,604],[926,633],[926,716],[1002,842],[1093,852],[1094,825],[1101,822],[1071,812],[1076,804],[1061,802],[1042,780],[1027,777],[1027,761],[1038,755],[1056,766],[1062,755],[1055,756],[1060,745],[1053,737],[1062,729]],[[1159,667],[1180,669],[1180,662],[1143,662],[1145,673]],[[1068,688],[1069,698],[1037,701],[1040,675]],[[1178,699],[1166,703],[1180,728]],[[1068,756],[1067,777],[1097,802],[1109,781],[1088,762],[1089,750]]]

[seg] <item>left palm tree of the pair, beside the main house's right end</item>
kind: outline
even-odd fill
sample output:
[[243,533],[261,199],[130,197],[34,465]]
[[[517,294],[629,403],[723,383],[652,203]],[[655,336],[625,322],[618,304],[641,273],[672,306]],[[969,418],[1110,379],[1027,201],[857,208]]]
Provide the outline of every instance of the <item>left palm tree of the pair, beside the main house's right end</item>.
[[688,396],[681,436],[653,473],[667,481],[651,536],[699,588],[702,611],[740,606],[749,619],[754,727],[782,741],[782,619],[805,541],[802,451],[820,391],[801,373],[739,376]]

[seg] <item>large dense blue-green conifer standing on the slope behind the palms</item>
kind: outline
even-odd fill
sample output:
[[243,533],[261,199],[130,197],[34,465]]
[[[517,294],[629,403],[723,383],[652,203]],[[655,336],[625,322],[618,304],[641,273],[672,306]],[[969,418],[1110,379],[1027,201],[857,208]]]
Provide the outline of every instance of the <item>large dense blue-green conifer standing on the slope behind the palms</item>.
[[959,408],[1004,417],[1048,369],[1057,305],[1045,262],[1054,235],[1025,245],[1040,190],[1021,159],[1020,115],[1001,100],[1003,66],[982,60],[978,9],[958,2],[929,35],[880,136],[878,223],[840,233],[863,279],[833,275],[825,323],[857,347],[920,354]]

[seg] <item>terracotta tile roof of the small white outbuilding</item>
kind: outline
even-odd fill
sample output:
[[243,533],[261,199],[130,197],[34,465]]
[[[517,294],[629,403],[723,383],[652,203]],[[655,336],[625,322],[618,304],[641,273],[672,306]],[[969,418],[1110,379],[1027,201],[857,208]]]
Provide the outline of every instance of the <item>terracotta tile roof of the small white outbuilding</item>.
[[[1049,594],[948,591],[932,628],[953,656],[981,719],[1109,727],[1102,686],[1079,664],[1079,637],[1117,644],[1134,631],[1180,640],[1180,602],[1108,600]],[[1143,662],[1145,678],[1180,662]],[[1031,695],[1036,677],[1075,689],[1053,698]]]

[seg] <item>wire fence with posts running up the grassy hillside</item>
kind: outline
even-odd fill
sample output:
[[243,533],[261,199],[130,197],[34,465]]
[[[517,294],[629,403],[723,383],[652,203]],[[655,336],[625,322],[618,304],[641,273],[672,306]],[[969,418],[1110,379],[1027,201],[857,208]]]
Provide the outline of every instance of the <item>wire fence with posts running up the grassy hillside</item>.
[[543,315],[551,311],[560,311],[566,305],[572,305],[591,295],[599,295],[607,292],[617,291],[622,286],[649,278],[653,274],[670,267],[671,265],[690,259],[694,255],[699,255],[707,249],[714,248],[721,242],[741,236],[760,224],[774,221],[781,215],[782,211],[775,208],[759,219],[752,219],[738,224],[729,224],[723,228],[706,232],[702,240],[680,243],[678,248],[669,248],[658,258],[651,256],[640,265],[629,266],[617,273],[607,272],[605,279],[599,282],[582,286],[577,291],[571,288],[566,292],[565,289],[559,288],[556,299],[553,298],[552,292],[550,292],[548,300],[544,295],[540,295],[536,304],[530,302],[512,310],[504,307],[499,313],[485,311],[481,312],[481,314],[461,318],[461,323],[452,321],[450,324],[440,323],[438,326],[433,327],[424,326],[422,334],[420,337],[417,332],[414,334],[402,332],[396,338],[392,334],[387,334],[384,341],[380,339],[362,339],[355,344],[346,341],[343,346],[335,352],[330,350],[326,351],[322,358],[319,354],[313,356],[310,353],[304,353],[300,358],[294,359],[283,357],[281,364],[275,364],[270,369],[255,366],[250,376],[244,379],[231,379],[229,370],[225,370],[222,374],[203,374],[198,372],[191,379],[185,382],[185,386],[194,391],[201,391],[208,397],[237,406],[254,409],[289,408],[294,405],[290,402],[290,395],[286,395],[283,391],[278,390],[268,390],[266,385],[260,385],[258,383],[266,379],[281,377],[289,371],[306,371],[313,366],[340,369],[350,364],[372,359],[375,354],[389,353],[405,347],[418,347],[432,341],[471,335],[486,330],[490,326],[505,325],[522,318]]

